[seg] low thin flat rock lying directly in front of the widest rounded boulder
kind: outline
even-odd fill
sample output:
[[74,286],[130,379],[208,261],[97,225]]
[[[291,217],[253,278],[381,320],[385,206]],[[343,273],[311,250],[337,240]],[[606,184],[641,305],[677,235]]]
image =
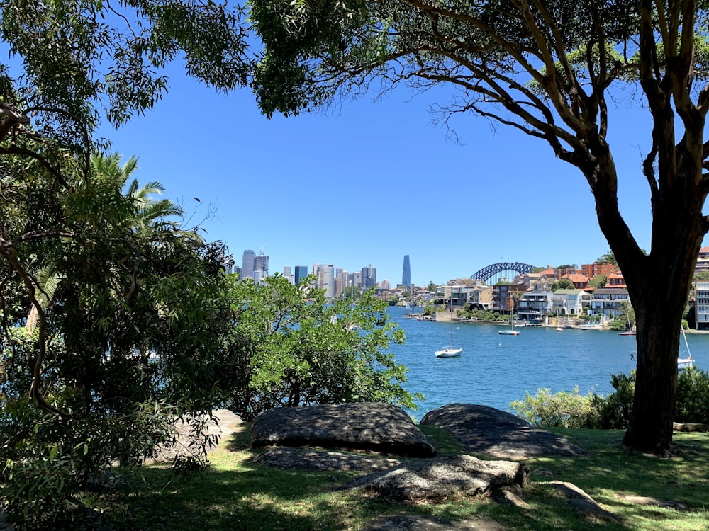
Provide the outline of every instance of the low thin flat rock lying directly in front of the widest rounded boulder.
[[365,473],[389,470],[401,464],[398,459],[304,448],[273,448],[257,455],[255,460],[267,467],[285,470],[337,470]]

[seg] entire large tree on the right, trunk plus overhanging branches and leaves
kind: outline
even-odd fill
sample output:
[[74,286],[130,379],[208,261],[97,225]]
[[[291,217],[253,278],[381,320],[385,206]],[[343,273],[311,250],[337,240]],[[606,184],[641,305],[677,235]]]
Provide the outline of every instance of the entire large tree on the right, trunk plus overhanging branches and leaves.
[[[251,14],[265,47],[255,90],[267,116],[399,84],[446,84],[456,92],[441,103],[444,119],[468,113],[513,127],[579,169],[637,314],[624,442],[668,452],[681,315],[709,229],[705,2],[255,0]],[[619,210],[608,143],[614,91],[626,89],[652,119],[638,171],[649,188],[650,253]]]

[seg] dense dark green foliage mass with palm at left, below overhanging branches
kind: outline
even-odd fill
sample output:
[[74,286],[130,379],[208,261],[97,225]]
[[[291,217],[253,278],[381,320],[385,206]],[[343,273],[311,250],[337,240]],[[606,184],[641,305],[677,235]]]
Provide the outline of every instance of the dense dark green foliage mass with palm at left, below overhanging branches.
[[[5,161],[8,159],[6,158]],[[6,512],[47,525],[116,459],[137,462],[184,413],[211,411],[229,330],[223,246],[128,182],[135,161],[67,157],[0,175],[0,436]],[[151,193],[152,191],[152,193]],[[199,452],[197,453],[199,456]]]

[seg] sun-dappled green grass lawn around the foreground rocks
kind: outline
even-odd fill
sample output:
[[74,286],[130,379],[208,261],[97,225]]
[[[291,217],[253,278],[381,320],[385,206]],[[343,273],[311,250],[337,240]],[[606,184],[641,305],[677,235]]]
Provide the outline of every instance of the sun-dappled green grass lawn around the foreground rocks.
[[[447,432],[422,427],[442,454],[464,453]],[[676,455],[666,459],[629,452],[620,431],[554,430],[586,450],[584,457],[530,459],[523,490],[527,508],[487,497],[441,504],[389,503],[339,489],[350,472],[296,472],[264,467],[247,449],[248,426],[224,440],[211,469],[191,481],[168,469],[145,467],[131,481],[129,496],[88,500],[114,523],[130,530],[359,530],[382,515],[435,515],[450,520],[492,518],[508,530],[706,530],[709,528],[709,434],[675,435]],[[483,458],[483,456],[477,456]],[[621,523],[581,515],[547,481],[569,481],[591,495]],[[642,506],[623,495],[652,496],[686,510]]]

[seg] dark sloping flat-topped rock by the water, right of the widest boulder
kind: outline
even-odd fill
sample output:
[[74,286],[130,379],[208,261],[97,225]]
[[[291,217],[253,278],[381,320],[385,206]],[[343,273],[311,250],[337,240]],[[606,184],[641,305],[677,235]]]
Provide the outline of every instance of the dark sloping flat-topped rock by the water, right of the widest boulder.
[[446,428],[470,452],[500,459],[584,455],[563,437],[489,406],[448,404],[426,413],[421,424]]

